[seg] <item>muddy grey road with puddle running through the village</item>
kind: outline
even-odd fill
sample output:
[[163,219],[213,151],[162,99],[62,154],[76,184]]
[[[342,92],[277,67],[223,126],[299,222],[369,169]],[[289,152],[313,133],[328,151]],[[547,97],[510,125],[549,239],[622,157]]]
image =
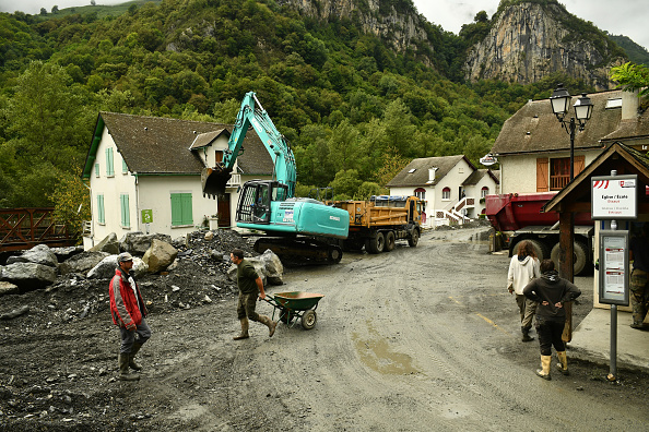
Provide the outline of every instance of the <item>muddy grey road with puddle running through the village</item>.
[[[5,430],[551,431],[644,430],[649,380],[571,362],[539,367],[520,341],[506,290],[509,259],[481,229],[433,231],[417,248],[346,253],[338,265],[294,267],[268,292],[326,297],[314,329],[251,323],[238,332],[234,295],[152,313],[139,383],[117,375],[118,334],[99,313],[68,325],[4,323],[0,425]],[[592,278],[578,323],[592,308]],[[149,287],[155,289],[155,287]],[[143,290],[144,297],[148,292]],[[258,312],[272,314],[264,302]],[[275,314],[275,319],[278,319]],[[23,327],[21,327],[21,325]],[[532,333],[535,336],[535,333]],[[569,350],[568,350],[569,359]],[[553,358],[553,368],[555,360]]]

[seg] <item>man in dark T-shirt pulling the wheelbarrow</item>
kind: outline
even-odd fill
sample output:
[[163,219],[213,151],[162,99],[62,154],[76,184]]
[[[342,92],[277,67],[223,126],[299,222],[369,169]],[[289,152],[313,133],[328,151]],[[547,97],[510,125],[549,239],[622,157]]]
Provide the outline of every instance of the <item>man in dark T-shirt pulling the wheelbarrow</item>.
[[237,302],[237,317],[241,324],[241,333],[235,336],[235,340],[247,339],[248,320],[257,321],[268,326],[268,336],[272,337],[275,333],[278,323],[266,315],[255,312],[257,299],[266,299],[263,283],[257,274],[255,266],[249,261],[244,260],[244,251],[235,249],[229,254],[229,259],[237,266],[237,286],[239,287],[239,299]]

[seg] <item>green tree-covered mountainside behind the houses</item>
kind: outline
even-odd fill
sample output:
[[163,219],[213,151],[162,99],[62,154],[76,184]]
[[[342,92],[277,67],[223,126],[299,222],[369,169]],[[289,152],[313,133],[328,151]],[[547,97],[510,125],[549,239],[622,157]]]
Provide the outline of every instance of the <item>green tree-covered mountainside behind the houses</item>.
[[99,110],[233,122],[255,91],[292,143],[300,190],[332,185],[351,197],[415,157],[465,154],[477,164],[505,119],[559,81],[593,91],[560,73],[528,85],[464,83],[462,59],[480,32],[456,36],[417,21],[411,0],[312,2],[351,8],[319,15],[293,3],[0,14],[0,206],[52,204],[83,164]]

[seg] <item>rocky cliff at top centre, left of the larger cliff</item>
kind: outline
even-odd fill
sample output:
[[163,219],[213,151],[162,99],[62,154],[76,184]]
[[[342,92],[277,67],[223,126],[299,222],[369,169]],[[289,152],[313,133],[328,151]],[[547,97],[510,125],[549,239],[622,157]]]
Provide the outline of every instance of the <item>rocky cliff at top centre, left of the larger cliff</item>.
[[[300,13],[319,20],[351,19],[356,15],[365,33],[389,40],[398,51],[404,51],[414,40],[426,40],[424,20],[414,9],[399,13],[394,8],[379,14],[379,0],[366,0],[367,8],[359,8],[358,0],[281,0]],[[433,47],[430,47],[433,48]]]

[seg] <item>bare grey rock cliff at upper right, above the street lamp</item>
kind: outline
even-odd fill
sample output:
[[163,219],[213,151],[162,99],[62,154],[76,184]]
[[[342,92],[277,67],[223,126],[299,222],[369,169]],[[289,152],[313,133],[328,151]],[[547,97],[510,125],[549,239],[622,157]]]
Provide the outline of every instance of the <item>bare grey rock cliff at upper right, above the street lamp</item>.
[[505,9],[487,37],[470,49],[465,79],[529,84],[564,72],[597,89],[613,88],[610,70],[624,59],[598,50],[592,41],[576,40],[574,31],[558,20],[560,14],[566,11],[557,4],[520,3]]

